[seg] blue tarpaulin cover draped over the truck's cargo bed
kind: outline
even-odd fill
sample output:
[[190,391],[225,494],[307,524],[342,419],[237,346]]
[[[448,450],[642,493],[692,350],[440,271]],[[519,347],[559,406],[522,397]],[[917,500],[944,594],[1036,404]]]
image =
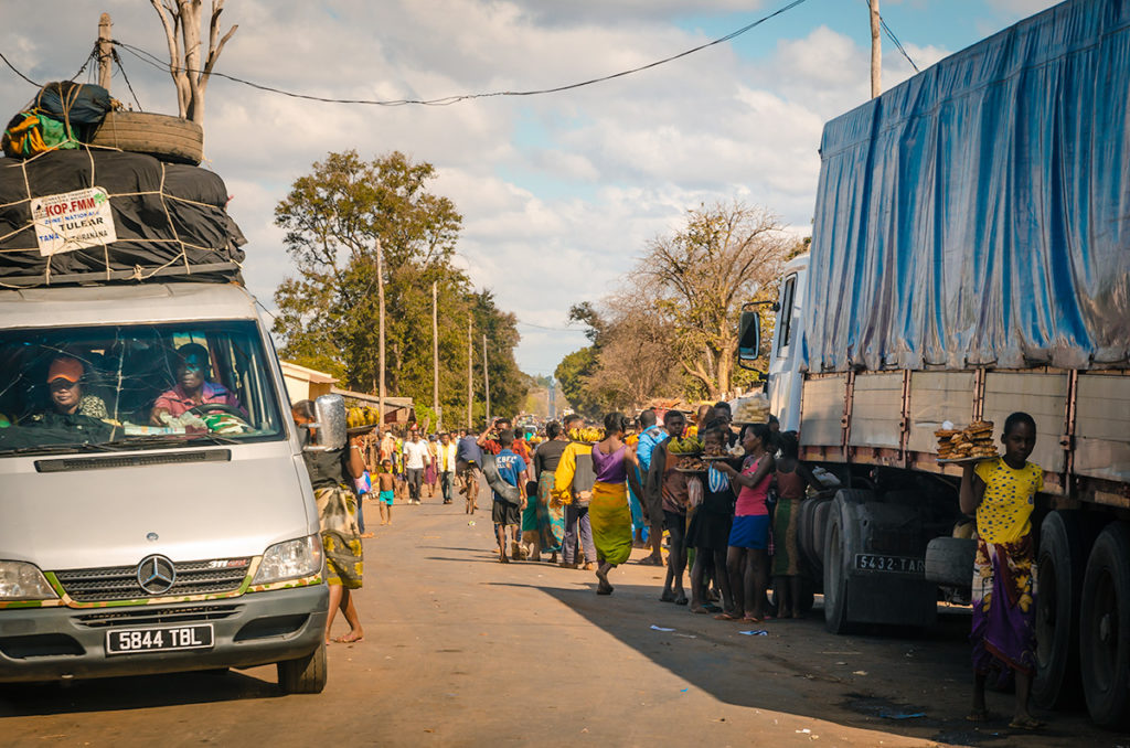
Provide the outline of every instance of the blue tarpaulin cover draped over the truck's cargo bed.
[[824,128],[803,362],[1130,353],[1130,0],[1072,0]]

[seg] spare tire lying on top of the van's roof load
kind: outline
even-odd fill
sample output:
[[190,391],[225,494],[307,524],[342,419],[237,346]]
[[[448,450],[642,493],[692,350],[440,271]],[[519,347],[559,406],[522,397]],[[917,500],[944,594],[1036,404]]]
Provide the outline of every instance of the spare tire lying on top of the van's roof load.
[[148,112],[110,112],[90,145],[147,154],[197,166],[205,155],[205,131],[191,120]]

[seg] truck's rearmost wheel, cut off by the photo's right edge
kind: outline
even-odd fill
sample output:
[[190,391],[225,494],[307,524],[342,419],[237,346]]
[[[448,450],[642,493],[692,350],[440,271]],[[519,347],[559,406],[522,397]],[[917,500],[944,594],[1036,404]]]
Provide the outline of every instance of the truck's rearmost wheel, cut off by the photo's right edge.
[[1130,528],[1112,522],[1095,540],[1079,611],[1083,693],[1090,719],[1119,728],[1130,719]]

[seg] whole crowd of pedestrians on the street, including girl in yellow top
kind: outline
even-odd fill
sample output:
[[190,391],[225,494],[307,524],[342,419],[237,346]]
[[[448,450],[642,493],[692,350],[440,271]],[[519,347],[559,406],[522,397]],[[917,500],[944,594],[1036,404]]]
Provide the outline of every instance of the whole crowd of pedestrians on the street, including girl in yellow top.
[[[295,403],[293,416],[314,430],[313,403]],[[764,424],[734,425],[727,402],[701,407],[689,427],[679,410],[667,410],[662,425],[659,420],[654,410],[634,419],[611,412],[601,438],[592,441],[583,438],[592,429],[582,430],[575,415],[546,424],[540,434],[515,432],[499,418],[481,433],[425,436],[409,429],[407,438],[390,432],[353,437],[336,452],[305,452],[331,591],[327,642],[338,611],[349,632],[332,641],[364,636],[351,591],[362,582],[360,539],[372,537],[365,531],[365,496],[376,495],[381,524],[391,524],[398,501],[420,504],[434,498],[437,487],[444,504],[453,504],[458,493],[464,513],[473,515],[480,477],[490,490],[501,563],[548,560],[591,571],[597,594],[609,595],[614,569],[633,549],[650,548],[637,563],[666,567],[663,602],[719,620],[760,624],[770,617],[772,577],[773,616],[802,617],[798,507],[810,489],[823,486],[799,460],[797,435],[781,433],[772,416]],[[975,470],[967,467],[960,490],[960,508],[975,514],[980,538],[970,719],[986,719],[985,682],[991,673],[1010,670],[1017,682],[1012,724],[1025,729],[1043,727],[1027,711],[1035,649],[1028,515],[1042,475],[1027,462],[1034,434],[1031,416],[1009,416],[1006,454]],[[686,435],[697,440],[694,453],[685,449]],[[1007,588],[1014,582],[1015,590]],[[1001,584],[1008,594],[994,595]]]

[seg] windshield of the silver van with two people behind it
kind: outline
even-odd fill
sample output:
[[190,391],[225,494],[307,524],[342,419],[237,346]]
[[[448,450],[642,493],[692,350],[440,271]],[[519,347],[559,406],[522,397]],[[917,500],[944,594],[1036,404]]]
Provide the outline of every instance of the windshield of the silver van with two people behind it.
[[0,456],[285,438],[254,322],[0,331]]

